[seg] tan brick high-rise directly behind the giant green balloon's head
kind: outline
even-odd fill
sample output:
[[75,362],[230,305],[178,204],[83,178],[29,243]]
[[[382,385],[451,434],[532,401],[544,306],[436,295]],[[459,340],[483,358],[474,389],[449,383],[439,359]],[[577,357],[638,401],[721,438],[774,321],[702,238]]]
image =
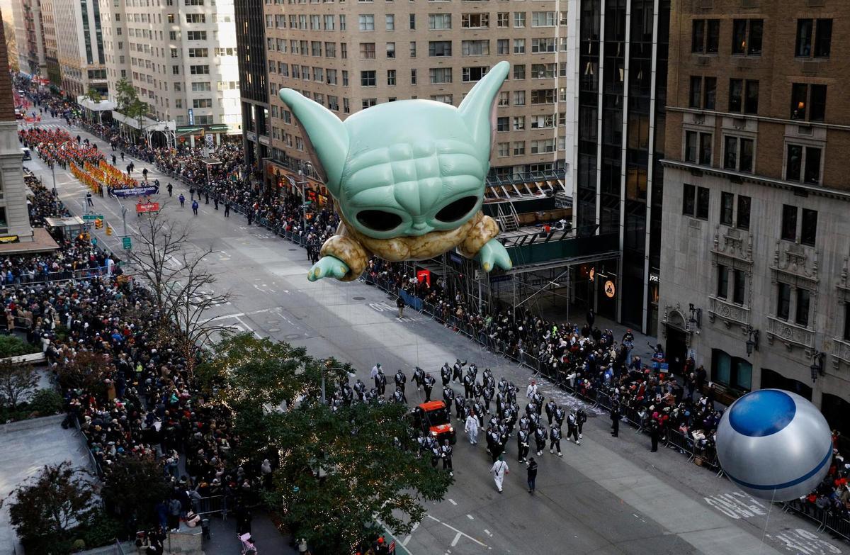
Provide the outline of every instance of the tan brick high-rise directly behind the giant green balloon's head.
[[237,9],[245,14],[241,48],[251,54],[242,60],[242,86],[258,89],[243,95],[251,162],[269,157],[286,171],[307,159],[304,137],[277,96],[283,87],[343,119],[394,100],[457,106],[490,66],[509,60],[490,177],[507,186],[565,179],[575,119],[575,0],[237,1],[245,5]]

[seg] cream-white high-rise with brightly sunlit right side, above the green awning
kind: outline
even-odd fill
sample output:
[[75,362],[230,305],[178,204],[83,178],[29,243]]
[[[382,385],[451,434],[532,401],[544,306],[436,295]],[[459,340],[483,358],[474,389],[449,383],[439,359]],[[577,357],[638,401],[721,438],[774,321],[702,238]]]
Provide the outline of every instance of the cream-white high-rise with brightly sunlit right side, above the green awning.
[[184,139],[241,133],[232,0],[100,0],[100,11],[111,100],[124,78]]

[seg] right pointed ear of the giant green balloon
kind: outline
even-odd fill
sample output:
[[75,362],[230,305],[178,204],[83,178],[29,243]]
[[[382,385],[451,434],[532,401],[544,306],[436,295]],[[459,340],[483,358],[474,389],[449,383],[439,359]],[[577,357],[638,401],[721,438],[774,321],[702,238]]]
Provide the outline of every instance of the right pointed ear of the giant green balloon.
[[507,61],[500,61],[490,68],[487,75],[475,84],[457,108],[467,124],[467,129],[473,135],[473,144],[483,161],[490,160],[490,149],[496,129],[496,94],[499,93],[501,83],[505,81],[510,69],[511,65]]

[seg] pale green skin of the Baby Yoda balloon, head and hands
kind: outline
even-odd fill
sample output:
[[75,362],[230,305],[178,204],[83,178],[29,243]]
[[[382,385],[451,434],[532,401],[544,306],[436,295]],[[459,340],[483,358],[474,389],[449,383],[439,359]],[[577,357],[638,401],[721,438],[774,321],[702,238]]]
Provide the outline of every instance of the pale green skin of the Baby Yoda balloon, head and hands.
[[[297,117],[309,139],[314,160],[337,200],[347,226],[377,239],[418,237],[456,229],[476,215],[484,199],[490,169],[491,111],[510,65],[502,61],[455,108],[432,100],[400,100],[373,106],[341,121],[324,106],[292,89],[280,99]],[[476,197],[460,220],[439,221],[446,204]],[[388,231],[363,226],[361,210],[377,209],[401,217]],[[484,272],[513,265],[505,247],[490,239],[475,255]],[[348,265],[323,256],[308,278],[343,278]]]

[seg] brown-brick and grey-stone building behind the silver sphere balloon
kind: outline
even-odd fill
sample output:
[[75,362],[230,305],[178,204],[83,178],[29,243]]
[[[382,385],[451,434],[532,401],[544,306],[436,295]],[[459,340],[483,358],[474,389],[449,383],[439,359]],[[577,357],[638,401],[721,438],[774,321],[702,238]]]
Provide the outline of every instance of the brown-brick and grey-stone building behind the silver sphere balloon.
[[848,14],[831,0],[677,3],[660,267],[672,363],[690,354],[729,397],[798,392],[846,433]]

